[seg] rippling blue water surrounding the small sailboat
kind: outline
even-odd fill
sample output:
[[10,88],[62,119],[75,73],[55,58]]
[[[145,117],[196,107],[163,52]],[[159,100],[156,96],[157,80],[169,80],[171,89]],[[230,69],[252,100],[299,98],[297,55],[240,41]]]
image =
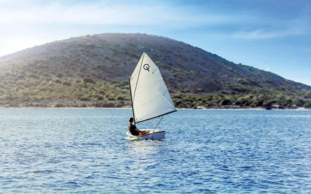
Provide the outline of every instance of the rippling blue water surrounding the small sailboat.
[[0,192],[311,192],[311,111],[179,110],[164,141],[125,139],[131,115],[0,109]]

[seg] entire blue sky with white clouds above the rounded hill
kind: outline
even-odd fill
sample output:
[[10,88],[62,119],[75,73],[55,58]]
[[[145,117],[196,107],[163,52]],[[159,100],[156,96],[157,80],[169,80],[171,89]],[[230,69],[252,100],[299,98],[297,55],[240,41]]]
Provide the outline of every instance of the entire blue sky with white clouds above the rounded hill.
[[311,85],[311,0],[0,0],[0,56],[101,33],[165,36]]

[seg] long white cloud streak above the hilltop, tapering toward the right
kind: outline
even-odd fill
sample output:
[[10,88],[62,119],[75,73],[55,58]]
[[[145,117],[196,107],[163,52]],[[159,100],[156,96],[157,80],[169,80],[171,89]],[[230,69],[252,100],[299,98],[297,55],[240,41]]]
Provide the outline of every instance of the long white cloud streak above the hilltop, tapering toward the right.
[[207,25],[236,23],[243,14],[204,12],[198,6],[130,4],[108,5],[53,2],[45,5],[0,8],[0,24],[87,24],[87,25]]

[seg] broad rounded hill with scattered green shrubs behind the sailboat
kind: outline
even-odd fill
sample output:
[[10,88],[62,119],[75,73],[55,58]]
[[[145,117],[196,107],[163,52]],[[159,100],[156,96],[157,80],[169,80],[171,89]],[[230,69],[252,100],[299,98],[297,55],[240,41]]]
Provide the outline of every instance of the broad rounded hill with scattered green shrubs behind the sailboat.
[[149,48],[177,107],[310,106],[311,86],[147,34],[86,35],[2,56],[0,106],[130,106],[127,79]]

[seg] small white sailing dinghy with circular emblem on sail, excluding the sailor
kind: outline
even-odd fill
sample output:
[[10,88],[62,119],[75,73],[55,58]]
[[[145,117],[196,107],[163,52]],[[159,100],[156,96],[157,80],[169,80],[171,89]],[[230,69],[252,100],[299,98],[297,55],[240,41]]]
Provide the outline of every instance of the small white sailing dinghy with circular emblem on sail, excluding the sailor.
[[[146,53],[151,50],[143,52],[131,77],[128,79],[134,125],[161,116],[163,118],[164,115],[177,111],[159,68]],[[164,139],[165,131],[160,131],[156,127],[155,129],[139,129],[141,131],[150,131],[150,133],[141,136],[134,136],[129,131],[126,134],[129,138],[137,140]]]

